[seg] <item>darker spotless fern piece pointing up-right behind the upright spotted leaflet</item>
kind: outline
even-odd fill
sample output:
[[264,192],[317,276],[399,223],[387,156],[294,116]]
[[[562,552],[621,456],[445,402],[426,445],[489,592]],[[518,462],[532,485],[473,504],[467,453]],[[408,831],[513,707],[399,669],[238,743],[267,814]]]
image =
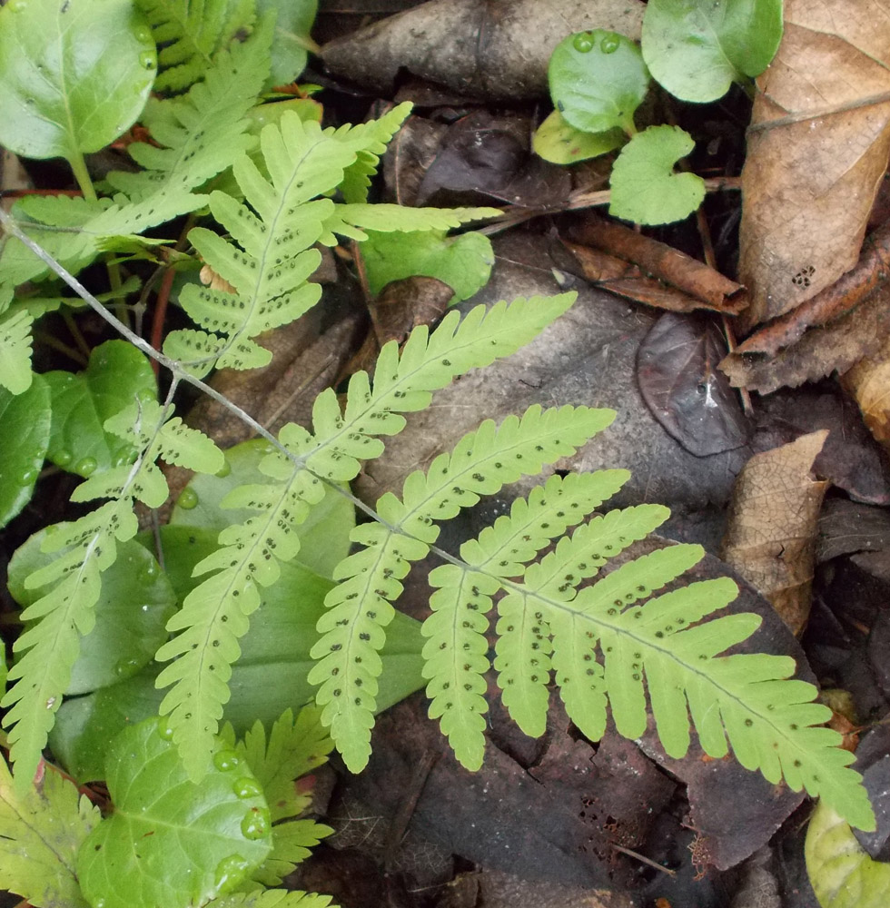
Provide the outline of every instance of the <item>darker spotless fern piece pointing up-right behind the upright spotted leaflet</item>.
[[143,202],[174,188],[197,189],[231,167],[252,144],[246,114],[269,74],[271,41],[271,27],[257,28],[249,40],[216,54],[188,94],[149,99],[142,122],[162,147],[132,143],[127,151],[143,171],[112,171],[108,183],[130,202]]

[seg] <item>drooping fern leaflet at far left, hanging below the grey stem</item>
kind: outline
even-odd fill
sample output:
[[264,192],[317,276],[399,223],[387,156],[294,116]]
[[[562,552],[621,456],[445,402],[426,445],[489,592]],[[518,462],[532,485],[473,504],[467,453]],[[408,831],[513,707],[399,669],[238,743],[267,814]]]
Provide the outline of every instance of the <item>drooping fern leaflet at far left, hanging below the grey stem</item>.
[[74,490],[74,501],[112,498],[72,523],[48,528],[41,546],[58,552],[53,562],[25,580],[29,589],[47,587],[44,595],[25,608],[22,620],[35,622],[14,646],[24,653],[10,669],[15,680],[0,701],[11,707],[4,717],[10,755],[19,785],[30,785],[40,752],[62,705],[71,669],[80,650],[80,637],[94,627],[94,606],[102,586],[102,572],[117,558],[117,542],[133,538],[137,525],[134,498],[156,508],[167,497],[166,480],[154,465],[163,456],[192,469],[222,469],[223,453],[180,419],[164,421],[154,401],[139,401],[105,420],[105,428],[134,443],[134,461],[97,473]]

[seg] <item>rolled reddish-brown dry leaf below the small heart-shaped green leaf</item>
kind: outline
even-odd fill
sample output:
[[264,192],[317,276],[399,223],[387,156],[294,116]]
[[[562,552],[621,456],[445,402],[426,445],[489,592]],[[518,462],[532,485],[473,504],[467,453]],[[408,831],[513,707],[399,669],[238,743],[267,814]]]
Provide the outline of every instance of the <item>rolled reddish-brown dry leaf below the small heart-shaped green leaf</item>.
[[735,315],[747,305],[741,284],[730,281],[704,262],[622,224],[590,216],[585,224],[572,231],[572,236],[578,242],[639,265],[659,281],[701,301],[699,308]]

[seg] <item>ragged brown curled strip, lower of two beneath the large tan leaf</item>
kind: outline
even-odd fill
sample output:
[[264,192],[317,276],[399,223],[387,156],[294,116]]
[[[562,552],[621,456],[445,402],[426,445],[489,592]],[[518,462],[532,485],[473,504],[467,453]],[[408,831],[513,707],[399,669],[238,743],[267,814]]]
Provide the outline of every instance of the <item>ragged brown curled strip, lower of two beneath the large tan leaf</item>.
[[719,368],[737,388],[769,394],[825,378],[834,371],[845,372],[875,353],[888,334],[890,288],[885,284],[853,311],[831,324],[809,329],[775,356],[734,350]]

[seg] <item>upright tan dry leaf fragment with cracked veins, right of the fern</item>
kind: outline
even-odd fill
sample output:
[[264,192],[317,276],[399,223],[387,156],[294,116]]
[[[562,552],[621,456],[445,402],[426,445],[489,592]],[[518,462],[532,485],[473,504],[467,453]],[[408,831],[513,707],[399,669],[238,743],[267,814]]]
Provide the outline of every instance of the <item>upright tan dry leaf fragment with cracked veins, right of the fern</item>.
[[769,600],[795,634],[806,627],[816,527],[826,482],[810,478],[828,432],[748,460],[736,480],[722,558]]

